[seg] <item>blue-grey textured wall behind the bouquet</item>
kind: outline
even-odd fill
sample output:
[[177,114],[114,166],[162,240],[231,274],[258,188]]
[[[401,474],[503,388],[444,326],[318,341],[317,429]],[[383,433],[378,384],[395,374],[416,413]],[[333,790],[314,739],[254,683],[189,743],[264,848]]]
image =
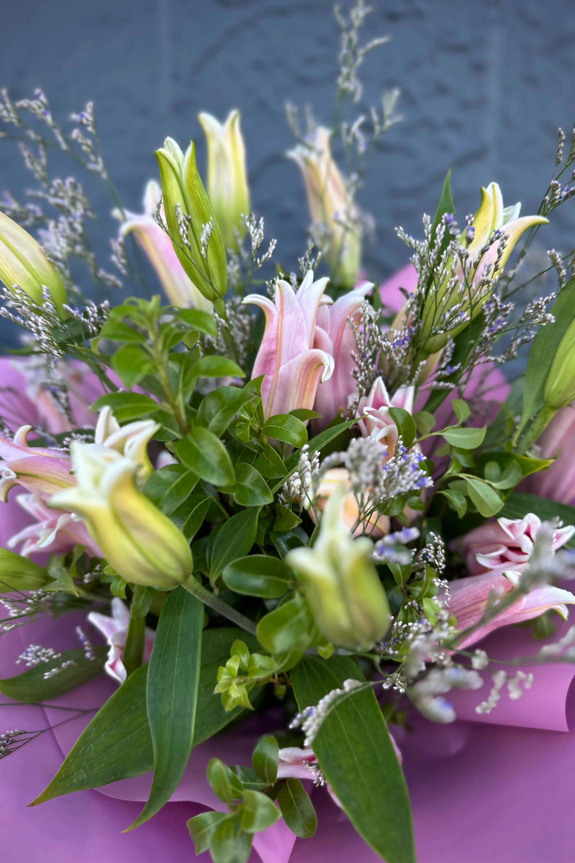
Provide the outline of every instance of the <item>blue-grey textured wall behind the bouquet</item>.
[[[347,5],[342,0],[342,9]],[[395,226],[421,235],[422,213],[433,214],[448,167],[460,222],[491,180],[505,205],[521,200],[523,214],[538,210],[557,128],[568,144],[575,117],[575,3],[372,5],[364,39],[387,34],[391,41],[361,67],[359,109],[399,87],[403,115],[359,192],[377,226],[365,266],[380,279],[409,258]],[[274,261],[296,269],[309,217],[300,173],[284,156],[293,146],[284,103],[309,104],[318,122],[330,123],[340,47],[332,7],[332,0],[4,0],[0,85],[15,100],[41,86],[63,125],[93,99],[104,159],[133,211],[141,211],[146,180],[157,176],[153,150],[166,135],[184,147],[197,138],[203,171],[198,111],[222,120],[241,109],[253,210],[266,219],[267,239],[278,239]],[[63,162],[59,175],[70,173]],[[0,192],[24,198],[30,180],[14,142],[0,141]],[[94,246],[111,269],[111,203],[95,178],[86,185],[99,217],[91,225]],[[535,253],[572,249],[573,202],[553,213],[539,237]],[[0,338],[16,343],[16,330],[2,322]]]

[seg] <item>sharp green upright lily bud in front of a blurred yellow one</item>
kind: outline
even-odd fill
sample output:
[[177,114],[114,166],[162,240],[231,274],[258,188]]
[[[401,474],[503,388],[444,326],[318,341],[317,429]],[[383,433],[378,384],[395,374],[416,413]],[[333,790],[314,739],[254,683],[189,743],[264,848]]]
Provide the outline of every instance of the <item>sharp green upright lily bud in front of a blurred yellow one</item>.
[[216,309],[222,307],[228,287],[226,249],[197,171],[196,145],[192,141],[184,155],[172,138],[166,138],[155,156],[166,222],[178,261],[200,293]]

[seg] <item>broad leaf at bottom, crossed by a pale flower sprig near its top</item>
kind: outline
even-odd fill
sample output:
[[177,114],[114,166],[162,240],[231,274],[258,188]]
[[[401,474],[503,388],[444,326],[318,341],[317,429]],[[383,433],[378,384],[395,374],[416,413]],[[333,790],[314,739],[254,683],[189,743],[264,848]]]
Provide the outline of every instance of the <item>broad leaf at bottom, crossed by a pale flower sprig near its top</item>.
[[[353,659],[304,656],[291,672],[300,710],[345,680],[365,678]],[[328,783],[367,844],[387,863],[415,863],[409,796],[373,690],[348,696],[328,714],[313,742]]]

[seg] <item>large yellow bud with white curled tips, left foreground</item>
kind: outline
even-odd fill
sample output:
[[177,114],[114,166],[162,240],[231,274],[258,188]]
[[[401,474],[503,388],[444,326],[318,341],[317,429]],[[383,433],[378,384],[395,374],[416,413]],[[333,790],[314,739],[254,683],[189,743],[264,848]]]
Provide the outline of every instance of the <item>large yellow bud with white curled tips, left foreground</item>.
[[50,507],[78,513],[109,564],[126,581],[170,589],[192,570],[184,535],[136,488],[140,465],[116,450],[72,442],[77,485],[54,494]]

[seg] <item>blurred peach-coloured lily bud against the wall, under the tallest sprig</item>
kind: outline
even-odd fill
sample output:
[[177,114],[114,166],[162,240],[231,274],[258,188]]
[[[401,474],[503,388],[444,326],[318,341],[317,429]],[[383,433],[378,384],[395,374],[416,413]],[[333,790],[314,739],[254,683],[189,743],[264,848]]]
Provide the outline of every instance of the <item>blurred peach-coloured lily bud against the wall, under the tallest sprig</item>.
[[361,259],[359,211],[331,154],[330,129],[318,126],[309,142],[287,154],[299,166],[314,230],[325,235],[325,260],[338,287],[353,287]]

